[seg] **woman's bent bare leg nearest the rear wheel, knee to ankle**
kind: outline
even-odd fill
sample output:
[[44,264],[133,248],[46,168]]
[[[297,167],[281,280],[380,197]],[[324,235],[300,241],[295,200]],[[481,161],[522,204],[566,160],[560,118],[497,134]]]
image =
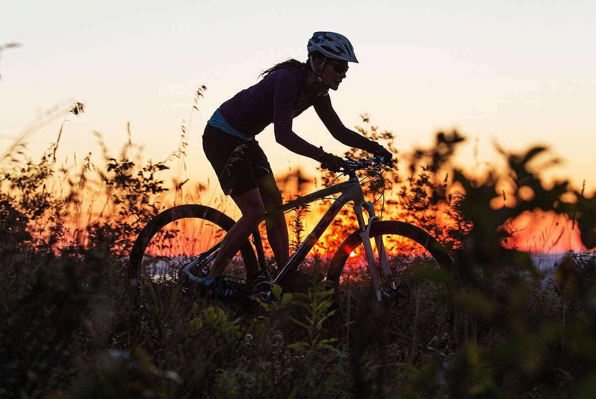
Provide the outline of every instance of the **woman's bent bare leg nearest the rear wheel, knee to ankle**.
[[[238,222],[234,223],[228,233],[222,239],[221,247],[218,254],[213,261],[211,270],[207,278],[213,278],[224,274],[224,270],[232,257],[240,250],[244,241],[254,232],[254,229],[259,226],[265,215],[263,208],[263,199],[261,198],[258,188],[243,192],[238,195],[231,195],[238,208],[242,212],[242,217]],[[287,231],[286,231],[287,234]],[[275,251],[275,250],[274,250]]]

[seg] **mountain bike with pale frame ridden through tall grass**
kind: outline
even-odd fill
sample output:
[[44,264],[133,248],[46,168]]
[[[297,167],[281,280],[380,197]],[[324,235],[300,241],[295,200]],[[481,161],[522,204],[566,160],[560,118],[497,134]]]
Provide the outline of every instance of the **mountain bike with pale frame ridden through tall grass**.
[[[246,292],[247,296],[271,300],[272,286],[283,282],[288,273],[297,270],[344,205],[353,207],[358,229],[342,242],[331,258],[325,279],[336,288],[336,292],[341,291],[340,280],[346,261],[359,245],[363,245],[368,275],[373,283],[374,298],[378,302],[389,301],[394,305],[409,300],[408,286],[395,280],[392,267],[395,268],[396,265],[390,260],[389,255],[392,254],[386,250],[386,236],[410,239],[430,255],[435,266],[451,272],[454,264],[449,254],[429,233],[409,223],[396,220],[381,221],[375,214],[373,203],[365,201],[361,180],[356,172],[369,170],[378,177],[383,158],[375,156],[365,160],[351,160],[346,157],[346,163],[346,181],[299,197],[281,207],[281,211],[287,213],[329,196],[333,196],[334,199],[275,279],[269,278],[263,243],[259,229],[256,229],[252,235],[253,243],[247,240],[239,251],[240,257],[236,256],[228,266],[228,273],[231,274],[225,276],[226,280],[235,288]],[[334,194],[339,193],[339,197],[334,197]],[[368,214],[367,219],[363,211]],[[170,223],[173,223],[175,228],[166,228]],[[194,229],[191,229],[191,224],[194,225]],[[181,286],[183,292],[190,290],[190,287],[181,283],[182,280],[191,283],[201,282],[201,278],[209,272],[209,264],[215,259],[222,236],[233,224],[234,220],[221,211],[199,204],[178,205],[162,211],[151,219],[136,238],[129,258],[129,279],[136,286],[143,306],[151,307],[151,301],[159,296],[159,292],[154,292],[159,289],[156,282],[173,282]],[[200,234],[200,237],[197,237],[197,234]],[[371,244],[373,239],[376,251]],[[153,249],[149,250],[148,245],[151,241],[154,241],[154,247],[150,247]],[[387,239],[385,241],[395,242]],[[173,250],[174,247],[177,251]],[[144,265],[144,258],[151,258],[153,266]]]

